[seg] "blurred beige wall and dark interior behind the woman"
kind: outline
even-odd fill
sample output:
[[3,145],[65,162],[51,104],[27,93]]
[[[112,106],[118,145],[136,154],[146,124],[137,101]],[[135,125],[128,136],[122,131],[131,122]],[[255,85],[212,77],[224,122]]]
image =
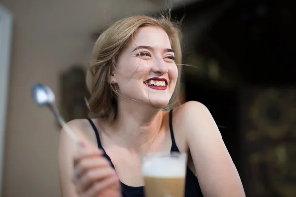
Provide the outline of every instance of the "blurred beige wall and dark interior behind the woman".
[[[84,118],[94,40],[125,16],[184,17],[183,101],[211,111],[247,197],[296,197],[293,1],[0,0],[0,194],[60,197],[60,127],[30,97],[41,82]],[[10,31],[11,30],[11,31]]]

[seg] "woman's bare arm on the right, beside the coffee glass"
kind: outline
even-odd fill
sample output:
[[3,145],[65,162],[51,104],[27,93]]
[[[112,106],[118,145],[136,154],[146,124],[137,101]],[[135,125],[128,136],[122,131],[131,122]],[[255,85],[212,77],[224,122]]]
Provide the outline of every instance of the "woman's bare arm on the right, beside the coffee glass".
[[204,196],[245,197],[236,167],[209,110],[190,101],[184,104],[182,114],[183,131]]

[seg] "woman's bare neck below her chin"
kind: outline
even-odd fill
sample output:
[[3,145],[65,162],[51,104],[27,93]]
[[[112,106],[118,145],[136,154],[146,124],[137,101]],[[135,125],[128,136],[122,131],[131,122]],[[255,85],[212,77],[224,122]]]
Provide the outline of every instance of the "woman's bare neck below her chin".
[[135,101],[119,100],[113,126],[124,146],[145,153],[158,136],[162,122],[162,110]]

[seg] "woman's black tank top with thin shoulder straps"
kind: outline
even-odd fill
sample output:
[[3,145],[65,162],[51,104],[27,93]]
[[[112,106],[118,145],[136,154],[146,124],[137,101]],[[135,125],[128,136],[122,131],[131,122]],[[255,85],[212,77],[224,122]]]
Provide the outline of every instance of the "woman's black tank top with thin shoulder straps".
[[[171,132],[171,138],[172,138],[172,147],[171,147],[171,152],[180,152],[176,142],[175,142],[175,137],[174,137],[174,132],[173,132],[173,124],[172,124],[172,110],[170,111],[170,116],[169,116],[169,124],[170,124],[170,132]],[[88,119],[90,122],[92,128],[95,131],[96,137],[97,137],[97,142],[98,142],[98,147],[104,151],[104,156],[109,160],[111,163],[112,167],[115,169],[114,164],[112,163],[110,157],[106,154],[106,151],[102,147],[101,141],[100,141],[100,136],[99,132],[93,123],[91,119]],[[123,197],[145,197],[144,195],[144,187],[139,186],[139,187],[132,187],[128,186],[124,183],[121,182],[121,189],[122,189],[122,196]],[[195,174],[187,167],[187,175],[186,175],[186,185],[185,185],[185,197],[203,197],[197,177]]]

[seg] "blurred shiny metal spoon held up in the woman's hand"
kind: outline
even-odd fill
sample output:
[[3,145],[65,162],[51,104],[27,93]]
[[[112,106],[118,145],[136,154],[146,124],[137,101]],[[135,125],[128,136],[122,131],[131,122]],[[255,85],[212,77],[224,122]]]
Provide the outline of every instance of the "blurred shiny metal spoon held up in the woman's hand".
[[54,106],[55,96],[52,90],[41,83],[34,84],[31,89],[31,96],[33,100],[39,106],[47,106],[55,118],[58,120],[62,128],[66,131],[66,133],[70,136],[71,139],[74,140],[80,147],[83,147],[83,143],[78,139],[75,133],[69,128],[69,126],[64,121],[63,117],[60,115],[58,110]]

